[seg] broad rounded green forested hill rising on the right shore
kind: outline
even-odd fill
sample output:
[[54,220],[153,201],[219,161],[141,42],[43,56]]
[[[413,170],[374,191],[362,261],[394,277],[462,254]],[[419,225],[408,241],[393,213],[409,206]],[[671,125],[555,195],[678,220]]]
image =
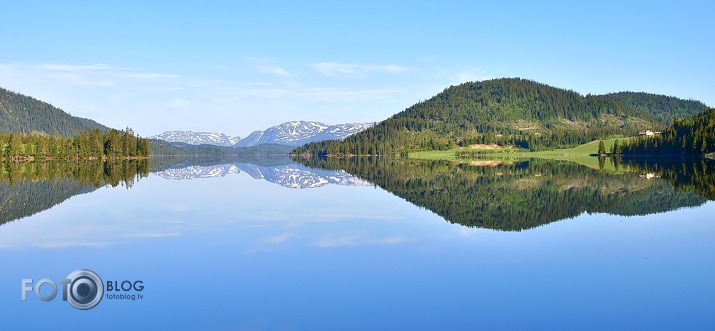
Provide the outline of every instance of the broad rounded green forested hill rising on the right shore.
[[398,154],[475,143],[530,149],[572,146],[611,135],[661,130],[675,117],[692,118],[698,101],[647,93],[583,96],[520,78],[450,86],[342,142],[311,143],[312,154]]

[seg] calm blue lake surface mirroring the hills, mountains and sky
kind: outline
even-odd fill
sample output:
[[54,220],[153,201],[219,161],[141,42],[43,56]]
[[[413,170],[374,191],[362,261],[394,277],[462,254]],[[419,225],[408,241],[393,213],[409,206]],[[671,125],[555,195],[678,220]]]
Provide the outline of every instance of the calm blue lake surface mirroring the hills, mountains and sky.
[[710,161],[300,162],[4,166],[0,330],[715,328]]

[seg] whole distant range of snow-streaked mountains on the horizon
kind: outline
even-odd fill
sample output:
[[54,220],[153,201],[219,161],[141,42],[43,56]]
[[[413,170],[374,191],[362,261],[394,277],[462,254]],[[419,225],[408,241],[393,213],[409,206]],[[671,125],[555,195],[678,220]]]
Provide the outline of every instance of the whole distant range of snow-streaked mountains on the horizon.
[[266,144],[300,146],[314,141],[342,140],[372,126],[373,123],[328,125],[314,121],[292,121],[263,131],[254,131],[244,139],[227,136],[223,133],[193,131],[167,131],[150,138],[170,143],[224,147],[253,147]]

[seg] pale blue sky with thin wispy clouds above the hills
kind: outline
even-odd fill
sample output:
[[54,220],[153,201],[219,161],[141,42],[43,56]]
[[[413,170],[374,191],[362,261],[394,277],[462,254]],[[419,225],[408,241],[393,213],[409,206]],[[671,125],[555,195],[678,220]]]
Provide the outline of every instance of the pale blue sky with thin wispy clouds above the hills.
[[0,86],[141,135],[383,120],[522,77],[715,106],[715,1],[4,1]]

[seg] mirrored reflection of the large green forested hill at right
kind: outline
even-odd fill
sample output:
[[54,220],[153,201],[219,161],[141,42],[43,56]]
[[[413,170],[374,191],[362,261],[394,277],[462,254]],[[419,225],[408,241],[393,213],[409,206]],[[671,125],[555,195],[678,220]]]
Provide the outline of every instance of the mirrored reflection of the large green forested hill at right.
[[[646,215],[697,206],[706,201],[701,196],[705,195],[704,187],[712,192],[714,185],[712,174],[707,172],[709,169],[712,173],[712,165],[707,163],[664,170],[663,178],[684,172],[677,175],[681,181],[674,186],[660,178],[646,180],[637,172],[613,175],[543,160],[491,166],[394,158],[300,162],[343,169],[449,222],[499,230],[529,229],[583,212]],[[626,168],[637,171],[640,166],[630,163]],[[700,182],[707,178],[709,182]],[[694,190],[685,189],[690,187]]]

